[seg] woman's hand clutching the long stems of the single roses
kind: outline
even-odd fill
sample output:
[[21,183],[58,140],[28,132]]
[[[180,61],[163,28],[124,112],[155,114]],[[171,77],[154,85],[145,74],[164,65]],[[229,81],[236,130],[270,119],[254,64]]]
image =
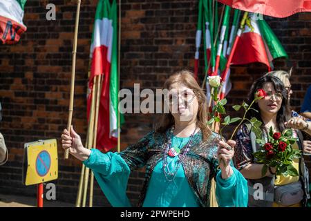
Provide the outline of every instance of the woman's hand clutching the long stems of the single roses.
[[218,148],[217,157],[221,169],[221,176],[223,179],[227,179],[233,173],[229,163],[234,157],[234,146],[236,146],[236,142],[234,140],[228,140],[226,143],[220,140],[218,144],[220,148]]

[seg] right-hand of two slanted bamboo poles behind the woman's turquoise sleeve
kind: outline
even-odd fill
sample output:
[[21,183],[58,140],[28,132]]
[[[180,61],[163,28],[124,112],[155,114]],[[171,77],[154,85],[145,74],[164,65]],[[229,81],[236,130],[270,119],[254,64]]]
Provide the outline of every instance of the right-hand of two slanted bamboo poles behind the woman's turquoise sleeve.
[[[97,91],[96,91],[96,108],[95,108],[95,124],[94,124],[94,136],[93,136],[93,148],[96,148],[97,144],[97,125],[98,125],[98,111],[100,110],[100,83],[102,75],[97,77]],[[90,181],[90,199],[89,206],[93,207],[93,190],[94,190],[94,173],[91,171],[91,181]]]

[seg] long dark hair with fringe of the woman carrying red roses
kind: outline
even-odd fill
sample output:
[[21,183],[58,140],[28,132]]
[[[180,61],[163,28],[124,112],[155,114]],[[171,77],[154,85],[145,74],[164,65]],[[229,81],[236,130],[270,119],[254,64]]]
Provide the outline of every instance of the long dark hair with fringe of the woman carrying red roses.
[[[276,90],[277,93],[282,93],[283,99],[282,99],[282,104],[281,108],[278,111],[276,115],[276,123],[279,126],[279,129],[281,131],[285,130],[285,125],[284,123],[290,119],[290,108],[288,106],[288,93],[284,88],[284,84],[279,79],[278,77],[272,76],[272,75],[265,75],[263,77],[258,78],[254,84],[252,84],[252,88],[250,89],[249,95],[248,95],[248,103],[250,104],[254,100],[254,95],[256,91],[260,88],[263,88],[263,84],[271,82],[274,86],[274,90]],[[256,111],[253,111],[252,109],[247,112],[247,117],[252,118],[256,117],[258,120],[263,122],[263,119],[261,119],[261,114],[260,114],[260,109],[257,103],[254,103],[252,108],[256,109],[259,111],[257,113]]]

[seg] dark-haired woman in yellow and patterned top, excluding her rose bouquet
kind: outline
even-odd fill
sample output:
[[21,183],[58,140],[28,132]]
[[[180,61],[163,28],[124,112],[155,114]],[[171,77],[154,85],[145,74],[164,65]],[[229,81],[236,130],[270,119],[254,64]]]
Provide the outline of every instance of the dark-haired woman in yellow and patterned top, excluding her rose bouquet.
[[[286,90],[283,82],[272,75],[264,75],[257,79],[249,92],[248,104],[254,100],[254,94],[258,89],[265,90],[267,96],[254,103],[247,113],[247,118],[256,117],[263,124],[263,138],[267,140],[267,134],[272,127],[273,132],[282,133],[286,127],[291,127],[296,142],[293,148],[301,149],[302,142],[296,124],[290,123],[291,113],[288,106],[289,90]],[[299,176],[276,175],[276,169],[269,167],[267,173],[262,175],[263,164],[258,163],[253,153],[261,150],[262,146],[256,145],[256,135],[253,135],[249,123],[241,126],[236,135],[236,150],[234,164],[244,175],[248,182],[249,207],[300,207],[306,206],[310,198],[308,190],[308,169],[303,157],[295,159],[292,165],[299,171]],[[261,186],[261,188],[258,188]],[[260,191],[261,198],[258,198]]]

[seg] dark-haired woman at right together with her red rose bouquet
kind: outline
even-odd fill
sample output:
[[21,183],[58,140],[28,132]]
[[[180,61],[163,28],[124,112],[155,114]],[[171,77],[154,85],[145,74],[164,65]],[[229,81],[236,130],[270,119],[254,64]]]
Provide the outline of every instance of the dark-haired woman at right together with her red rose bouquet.
[[[297,157],[298,149],[301,149],[302,146],[297,135],[298,131],[286,130],[288,120],[291,118],[288,108],[288,93],[279,78],[265,75],[252,85],[249,102],[252,102],[255,96],[261,97],[261,99],[254,103],[248,112],[248,117],[249,119],[256,117],[262,122],[262,137],[256,137],[252,131],[251,123],[246,122],[236,135],[236,153],[234,155],[236,167],[248,182],[248,206],[303,206],[308,198],[308,180],[306,179],[308,170],[305,168],[303,158]],[[286,135],[288,135],[289,141],[285,139]],[[260,142],[261,140],[264,142]],[[292,148],[290,148],[290,144],[292,144]],[[292,162],[279,160],[277,168],[261,163],[268,162],[276,156],[283,156],[288,150],[294,150],[290,152]],[[254,157],[254,153],[260,151],[265,154],[265,161],[258,159],[256,154]],[[289,163],[288,171],[279,173],[283,164]],[[294,171],[297,175],[294,174]]]

